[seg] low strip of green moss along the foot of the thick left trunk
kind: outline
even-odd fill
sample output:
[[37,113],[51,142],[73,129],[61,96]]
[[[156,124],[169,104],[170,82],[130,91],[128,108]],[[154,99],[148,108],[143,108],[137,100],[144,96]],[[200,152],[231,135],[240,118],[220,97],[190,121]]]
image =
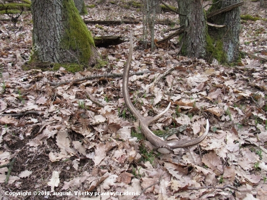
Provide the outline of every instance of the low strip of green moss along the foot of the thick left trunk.
[[27,71],[30,69],[41,69],[42,71],[58,71],[60,67],[64,67],[66,71],[75,73],[87,68],[85,65],[79,65],[77,63],[49,63],[49,62],[38,62],[29,63],[22,66],[22,69]]

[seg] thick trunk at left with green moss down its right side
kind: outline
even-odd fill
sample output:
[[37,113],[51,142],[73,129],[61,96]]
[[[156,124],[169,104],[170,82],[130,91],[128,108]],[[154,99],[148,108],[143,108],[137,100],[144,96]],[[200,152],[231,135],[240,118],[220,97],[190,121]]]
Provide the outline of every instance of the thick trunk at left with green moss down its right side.
[[31,61],[94,65],[100,56],[73,0],[32,0]]

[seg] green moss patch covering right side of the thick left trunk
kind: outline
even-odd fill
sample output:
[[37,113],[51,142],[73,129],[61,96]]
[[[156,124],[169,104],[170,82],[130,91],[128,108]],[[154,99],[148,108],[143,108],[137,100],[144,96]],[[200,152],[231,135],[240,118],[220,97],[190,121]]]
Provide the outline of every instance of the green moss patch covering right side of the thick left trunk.
[[79,63],[88,64],[92,55],[91,47],[95,46],[93,37],[83,23],[73,0],[63,0],[63,6],[66,8],[64,17],[67,18],[67,23],[61,46],[65,50],[79,52]]

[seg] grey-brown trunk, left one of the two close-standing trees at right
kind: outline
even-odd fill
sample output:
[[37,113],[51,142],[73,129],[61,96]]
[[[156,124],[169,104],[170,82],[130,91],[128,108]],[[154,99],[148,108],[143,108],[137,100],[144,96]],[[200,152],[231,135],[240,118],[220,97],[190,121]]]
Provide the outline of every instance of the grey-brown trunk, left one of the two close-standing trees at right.
[[179,16],[184,26],[182,53],[189,57],[205,57],[206,21],[202,0],[179,0],[178,7],[179,13],[186,14]]

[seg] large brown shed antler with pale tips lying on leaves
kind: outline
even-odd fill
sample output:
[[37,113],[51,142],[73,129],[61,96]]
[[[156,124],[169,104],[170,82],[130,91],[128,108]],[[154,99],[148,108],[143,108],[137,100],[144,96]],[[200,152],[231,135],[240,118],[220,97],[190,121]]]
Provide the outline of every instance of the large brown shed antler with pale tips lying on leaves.
[[130,96],[129,96],[129,86],[128,86],[128,79],[129,79],[129,72],[131,68],[131,60],[132,60],[132,55],[133,55],[133,36],[132,32],[130,33],[130,50],[129,50],[129,56],[126,62],[126,66],[123,71],[123,80],[122,80],[122,93],[123,93],[123,98],[126,103],[126,106],[129,108],[129,110],[132,112],[132,114],[139,120],[139,124],[141,126],[141,132],[145,135],[145,137],[150,141],[150,143],[156,147],[156,149],[159,148],[166,148],[168,150],[173,150],[177,148],[184,148],[184,147],[191,147],[194,145],[199,144],[201,141],[205,139],[209,132],[209,121],[207,119],[207,124],[206,124],[206,131],[203,133],[201,136],[195,139],[191,140],[174,140],[174,141],[164,141],[162,138],[158,137],[154,133],[152,133],[149,129],[149,125],[162,117],[169,109],[170,107],[170,102],[167,108],[158,114],[155,117],[143,117],[134,107]]

